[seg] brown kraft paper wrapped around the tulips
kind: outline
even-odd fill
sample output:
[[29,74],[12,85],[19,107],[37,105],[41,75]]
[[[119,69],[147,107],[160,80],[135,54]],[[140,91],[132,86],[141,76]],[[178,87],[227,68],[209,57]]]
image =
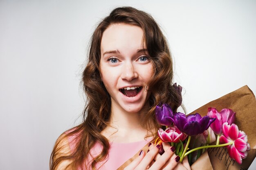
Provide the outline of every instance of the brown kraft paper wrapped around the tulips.
[[[235,123],[238,125],[240,131],[244,131],[247,134],[251,150],[249,150],[247,158],[243,159],[243,163],[239,165],[229,157],[225,147],[208,148],[208,150],[193,163],[191,169],[247,170],[256,157],[256,100],[252,90],[245,85],[234,92],[207,103],[190,114],[199,113],[201,116],[206,116],[209,107],[215,107],[218,111],[228,108],[236,112]],[[146,144],[142,150],[146,152],[148,150],[148,144]],[[139,155],[139,152],[140,150],[120,166],[118,170],[123,170],[128,166],[130,162]]]

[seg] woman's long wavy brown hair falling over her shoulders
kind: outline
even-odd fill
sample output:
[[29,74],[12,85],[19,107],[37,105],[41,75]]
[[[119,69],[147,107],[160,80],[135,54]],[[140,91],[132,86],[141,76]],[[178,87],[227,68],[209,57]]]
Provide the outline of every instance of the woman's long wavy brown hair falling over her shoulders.
[[[95,169],[97,163],[108,158],[109,141],[101,132],[110,126],[111,100],[101,81],[100,59],[101,38],[103,32],[112,24],[125,23],[139,26],[144,31],[143,40],[153,63],[154,75],[148,82],[147,88],[151,91],[149,105],[143,117],[143,124],[155,136],[160,125],[155,119],[155,107],[159,103],[168,103],[175,111],[180,106],[182,96],[173,87],[173,61],[166,38],[153,17],[144,11],[132,7],[118,7],[109,16],[105,17],[95,29],[90,40],[88,63],[83,71],[81,83],[87,95],[87,102],[83,111],[83,122],[64,132],[56,141],[51,158],[50,169],[55,170],[58,165],[67,161],[65,169]],[[152,128],[153,127],[153,128]],[[74,152],[65,150],[68,147],[67,137],[79,134],[76,139]],[[148,137],[147,136],[147,137]],[[102,152],[86,167],[85,159],[90,155],[90,149],[96,142],[103,146]]]

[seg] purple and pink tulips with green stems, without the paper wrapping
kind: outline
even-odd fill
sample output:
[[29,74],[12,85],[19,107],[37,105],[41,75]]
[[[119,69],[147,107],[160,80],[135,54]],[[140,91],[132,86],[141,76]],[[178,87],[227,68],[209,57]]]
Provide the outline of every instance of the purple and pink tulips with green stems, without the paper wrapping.
[[[189,163],[192,164],[194,151],[197,151],[194,159],[196,160],[207,148],[225,146],[229,157],[241,164],[250,150],[247,135],[239,131],[238,126],[234,124],[236,113],[231,109],[218,112],[210,107],[207,116],[201,117],[199,113],[186,116],[180,112],[173,113],[169,105],[163,104],[157,105],[155,115],[157,122],[166,126],[165,130],[158,130],[159,137],[155,144],[170,142],[175,146],[175,153],[180,156],[181,162],[188,155]],[[217,141],[212,145],[216,139],[215,135]],[[164,151],[160,149],[160,154],[161,152]]]

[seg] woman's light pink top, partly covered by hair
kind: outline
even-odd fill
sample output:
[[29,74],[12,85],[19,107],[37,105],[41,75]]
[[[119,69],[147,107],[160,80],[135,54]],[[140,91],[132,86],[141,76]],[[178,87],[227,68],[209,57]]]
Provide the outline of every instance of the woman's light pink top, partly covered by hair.
[[[78,135],[73,135],[68,137],[68,142],[70,145],[70,150],[73,153]],[[97,170],[116,170],[128,159],[133,157],[143,146],[150,142],[153,138],[130,143],[110,143],[110,149],[108,150],[108,160],[105,162],[98,163],[96,165]],[[102,146],[97,142],[94,147],[90,150],[92,156],[97,156],[101,153]],[[92,161],[92,157],[89,156],[85,162]],[[105,163],[104,163],[105,162]],[[104,164],[103,164],[104,163]],[[103,164],[103,166],[101,166]],[[101,167],[100,167],[101,166]],[[99,168],[100,167],[100,168]]]

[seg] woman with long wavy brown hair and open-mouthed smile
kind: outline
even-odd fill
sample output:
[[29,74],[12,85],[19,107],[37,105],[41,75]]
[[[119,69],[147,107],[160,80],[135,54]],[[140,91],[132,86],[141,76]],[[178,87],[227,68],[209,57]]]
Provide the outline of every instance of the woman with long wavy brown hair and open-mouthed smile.
[[[117,169],[156,137],[156,105],[180,106],[172,79],[171,54],[155,20],[132,7],[114,9],[92,35],[83,123],[57,139],[50,169]],[[189,169],[175,148],[163,148],[160,155],[159,146],[150,145],[125,169]]]

